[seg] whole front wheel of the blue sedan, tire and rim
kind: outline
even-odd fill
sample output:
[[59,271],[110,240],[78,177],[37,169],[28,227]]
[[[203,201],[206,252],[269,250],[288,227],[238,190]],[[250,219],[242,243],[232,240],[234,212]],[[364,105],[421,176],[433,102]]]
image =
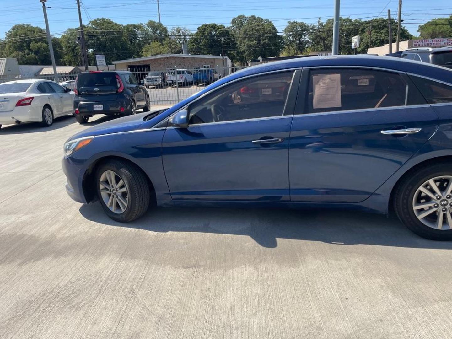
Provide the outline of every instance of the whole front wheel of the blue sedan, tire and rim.
[[146,213],[150,191],[145,174],[132,164],[110,160],[96,172],[97,194],[108,217],[128,222]]

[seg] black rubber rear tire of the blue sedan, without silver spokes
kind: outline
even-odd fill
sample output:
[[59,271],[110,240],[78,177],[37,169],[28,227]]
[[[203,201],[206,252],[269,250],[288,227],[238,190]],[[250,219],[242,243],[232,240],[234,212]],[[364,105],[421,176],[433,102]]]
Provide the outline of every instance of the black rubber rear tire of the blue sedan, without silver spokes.
[[[397,216],[400,221],[408,227],[411,231],[416,233],[417,235],[430,239],[430,240],[452,240],[452,229],[438,229],[427,226],[424,222],[420,221],[414,212],[413,208],[413,199],[416,194],[418,188],[426,183],[429,179],[433,179],[441,176],[452,176],[452,163],[444,162],[444,163],[436,163],[429,164],[416,169],[414,172],[406,175],[405,179],[403,179],[400,184],[397,185],[394,192],[394,208]],[[445,190],[445,187],[438,186],[441,193]],[[434,202],[433,199],[430,199],[427,202]],[[452,199],[441,198],[438,201],[448,200],[445,208],[449,208],[452,210],[451,202]],[[443,208],[439,206],[439,208]],[[442,205],[442,204],[441,204]],[[429,207],[435,208],[436,206]],[[427,211],[426,209],[425,211]],[[419,209],[418,209],[419,211]],[[424,209],[422,210],[422,212]],[[419,213],[419,212],[418,212]],[[426,220],[425,218],[437,218],[437,212],[432,212],[431,215],[424,217],[422,220]],[[444,220],[446,217],[444,217]],[[426,220],[427,221],[427,220]],[[434,220],[430,221],[434,222]]]

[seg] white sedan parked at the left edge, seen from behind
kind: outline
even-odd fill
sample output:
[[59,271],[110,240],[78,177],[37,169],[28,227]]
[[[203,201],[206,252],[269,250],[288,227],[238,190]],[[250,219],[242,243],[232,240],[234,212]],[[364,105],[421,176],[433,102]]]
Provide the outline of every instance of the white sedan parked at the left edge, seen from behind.
[[73,112],[74,92],[50,80],[15,80],[0,84],[0,127],[2,124],[41,122]]

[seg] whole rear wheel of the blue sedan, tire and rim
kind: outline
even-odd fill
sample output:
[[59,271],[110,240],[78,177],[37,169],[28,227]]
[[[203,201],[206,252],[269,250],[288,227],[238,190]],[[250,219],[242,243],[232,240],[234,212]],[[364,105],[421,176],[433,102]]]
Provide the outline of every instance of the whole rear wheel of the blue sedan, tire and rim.
[[400,221],[417,235],[452,240],[452,163],[408,175],[396,188],[394,204]]

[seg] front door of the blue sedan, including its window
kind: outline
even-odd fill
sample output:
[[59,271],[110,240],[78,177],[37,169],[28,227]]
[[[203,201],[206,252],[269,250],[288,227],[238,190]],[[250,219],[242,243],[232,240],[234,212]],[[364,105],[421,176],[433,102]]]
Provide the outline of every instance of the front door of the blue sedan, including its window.
[[284,107],[293,73],[226,85],[188,107],[188,128],[167,128],[162,159],[173,199],[289,200],[293,107]]

